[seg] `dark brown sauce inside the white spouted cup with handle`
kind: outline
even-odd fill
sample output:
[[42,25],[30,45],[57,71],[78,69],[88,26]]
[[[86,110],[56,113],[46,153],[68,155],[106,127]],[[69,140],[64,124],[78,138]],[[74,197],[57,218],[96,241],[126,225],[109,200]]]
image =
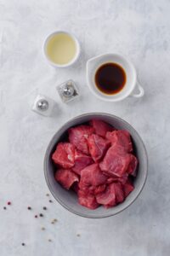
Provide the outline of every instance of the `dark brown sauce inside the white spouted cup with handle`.
[[116,63],[105,63],[95,73],[95,84],[105,94],[113,95],[122,90],[126,83],[124,69]]

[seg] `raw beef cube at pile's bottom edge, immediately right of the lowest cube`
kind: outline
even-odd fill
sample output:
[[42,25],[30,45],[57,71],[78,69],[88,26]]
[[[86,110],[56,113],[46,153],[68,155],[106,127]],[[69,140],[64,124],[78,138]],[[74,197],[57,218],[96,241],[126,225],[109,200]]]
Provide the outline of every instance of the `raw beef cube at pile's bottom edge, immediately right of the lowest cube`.
[[96,195],[96,201],[105,207],[113,207],[116,205],[116,194],[114,183],[109,184],[104,192]]

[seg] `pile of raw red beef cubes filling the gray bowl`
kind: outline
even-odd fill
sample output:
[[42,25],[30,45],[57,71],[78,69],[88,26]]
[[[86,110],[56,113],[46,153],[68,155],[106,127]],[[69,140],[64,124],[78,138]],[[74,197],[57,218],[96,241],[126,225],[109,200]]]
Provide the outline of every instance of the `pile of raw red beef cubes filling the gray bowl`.
[[114,207],[133,190],[138,160],[130,134],[102,120],[69,129],[67,142],[57,144],[52,160],[56,181],[74,189],[84,207]]

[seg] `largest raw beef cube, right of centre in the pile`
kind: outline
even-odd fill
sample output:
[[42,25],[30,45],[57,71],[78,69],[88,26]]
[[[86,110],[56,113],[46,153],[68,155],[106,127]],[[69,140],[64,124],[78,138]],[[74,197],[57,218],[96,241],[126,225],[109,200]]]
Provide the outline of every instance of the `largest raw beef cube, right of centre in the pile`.
[[129,166],[131,156],[121,150],[122,147],[111,146],[105,154],[105,158],[100,162],[101,171],[112,177],[122,177]]

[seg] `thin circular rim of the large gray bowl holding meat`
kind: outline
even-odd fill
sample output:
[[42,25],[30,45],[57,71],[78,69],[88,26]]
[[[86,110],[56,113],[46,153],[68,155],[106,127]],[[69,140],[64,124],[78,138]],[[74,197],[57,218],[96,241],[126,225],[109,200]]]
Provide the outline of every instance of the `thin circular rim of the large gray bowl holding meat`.
[[99,112],[93,112],[93,113],[82,113],[80,115],[77,115],[76,117],[73,117],[71,119],[69,119],[67,122],[65,122],[64,125],[61,125],[59,127],[59,129],[54,133],[54,136],[51,138],[50,142],[48,143],[48,148],[45,152],[45,155],[44,155],[44,160],[43,160],[43,170],[44,170],[44,176],[45,176],[45,180],[46,180],[46,183],[48,185],[48,189],[50,191],[50,193],[54,196],[54,199],[55,201],[58,201],[59,204],[62,206],[62,207],[65,207],[65,209],[69,212],[72,212],[74,214],[76,214],[77,216],[80,216],[80,217],[83,217],[83,218],[108,218],[108,217],[111,217],[111,216],[114,216],[122,211],[124,211],[125,209],[127,209],[127,207],[130,207],[134,201],[136,201],[136,199],[139,197],[140,193],[142,192],[142,190],[144,189],[144,185],[146,183],[146,180],[147,180],[147,176],[148,176],[148,154],[147,154],[147,150],[145,148],[145,145],[144,145],[144,142],[142,140],[142,138],[139,136],[139,133],[133,128],[133,131],[134,133],[137,135],[137,137],[139,137],[139,140],[140,142],[142,143],[142,146],[144,148],[144,157],[145,157],[145,163],[146,163],[146,170],[144,172],[144,181],[143,181],[143,184],[141,185],[141,188],[139,189],[139,193],[138,195],[136,195],[132,201],[130,201],[128,203],[128,205],[120,210],[118,210],[117,212],[114,212],[114,213],[109,213],[109,214],[105,214],[104,216],[102,215],[99,215],[99,216],[95,216],[95,215],[92,215],[92,216],[88,216],[87,213],[80,213],[80,212],[77,212],[76,210],[72,209],[71,207],[69,207],[68,205],[65,204],[64,201],[60,200],[59,197],[57,195],[54,195],[54,191],[53,189],[51,188],[50,186],[50,183],[49,183],[49,179],[48,179],[48,170],[47,170],[47,163],[48,163],[48,155],[50,154],[49,150],[51,149],[51,145],[54,143],[54,138],[57,134],[57,132],[59,132],[60,130],[64,129],[65,128],[65,125],[69,125],[69,123],[73,122],[74,120],[77,120],[77,119],[80,119],[80,118],[83,118],[83,117],[87,117],[87,116],[93,116],[93,115],[104,115],[104,116],[107,116],[107,117],[110,117],[110,118],[115,118],[119,121],[121,121],[122,123],[126,124],[127,126],[133,128],[132,125],[130,125],[127,121],[125,121],[124,119],[114,115],[114,114],[111,114],[111,113],[99,113]]

